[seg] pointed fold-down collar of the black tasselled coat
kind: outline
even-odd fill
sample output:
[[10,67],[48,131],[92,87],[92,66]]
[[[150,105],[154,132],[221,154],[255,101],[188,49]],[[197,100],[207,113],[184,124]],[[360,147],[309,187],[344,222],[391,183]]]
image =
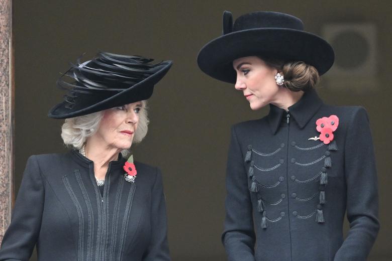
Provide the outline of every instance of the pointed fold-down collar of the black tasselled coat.
[[[297,103],[288,107],[290,118],[294,118],[298,123],[298,126],[303,128],[313,117],[313,115],[315,115],[315,113],[319,110],[322,104],[323,101],[320,99],[319,95],[317,95],[316,90],[312,89],[306,91]],[[280,125],[282,115],[285,115],[285,111],[284,109],[281,109],[272,104],[269,104],[269,106],[270,110],[267,116],[268,122],[272,134],[275,135]]]

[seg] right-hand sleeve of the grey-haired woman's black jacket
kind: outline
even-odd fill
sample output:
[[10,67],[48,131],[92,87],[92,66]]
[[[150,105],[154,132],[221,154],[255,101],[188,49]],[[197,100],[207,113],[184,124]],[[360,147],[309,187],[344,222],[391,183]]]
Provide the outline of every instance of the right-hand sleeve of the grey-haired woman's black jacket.
[[143,261],[170,261],[165,195],[159,169],[156,169],[156,178],[152,188],[151,231],[150,245]]

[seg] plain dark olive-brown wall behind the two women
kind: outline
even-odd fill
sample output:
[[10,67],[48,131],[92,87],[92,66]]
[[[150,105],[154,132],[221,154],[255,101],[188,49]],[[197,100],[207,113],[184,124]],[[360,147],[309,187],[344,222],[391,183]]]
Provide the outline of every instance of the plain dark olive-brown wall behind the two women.
[[347,88],[339,89],[323,80],[319,94],[327,103],[362,105],[369,113],[381,221],[371,256],[372,260],[390,260],[390,3],[14,1],[16,191],[30,155],[66,151],[60,138],[62,121],[46,115],[62,99],[55,82],[68,62],[84,52],[89,58],[98,50],[172,59],[172,69],[149,101],[150,130],[146,140],[134,148],[135,158],[159,166],[164,174],[173,260],[225,260],[220,234],[229,127],[262,117],[268,108],[251,111],[232,85],[209,78],[197,67],[200,48],[221,34],[222,12],[229,10],[234,18],[252,11],[289,13],[300,17],[306,29],[316,34],[329,22],[372,22],[377,27],[377,81],[358,91],[355,77]]

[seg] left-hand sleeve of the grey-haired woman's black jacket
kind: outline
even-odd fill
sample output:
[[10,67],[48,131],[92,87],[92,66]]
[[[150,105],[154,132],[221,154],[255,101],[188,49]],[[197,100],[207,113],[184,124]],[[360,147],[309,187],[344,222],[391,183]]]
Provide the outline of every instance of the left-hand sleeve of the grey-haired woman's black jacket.
[[29,260],[41,228],[44,186],[36,156],[31,156],[23,174],[11,224],[0,249],[0,260]]

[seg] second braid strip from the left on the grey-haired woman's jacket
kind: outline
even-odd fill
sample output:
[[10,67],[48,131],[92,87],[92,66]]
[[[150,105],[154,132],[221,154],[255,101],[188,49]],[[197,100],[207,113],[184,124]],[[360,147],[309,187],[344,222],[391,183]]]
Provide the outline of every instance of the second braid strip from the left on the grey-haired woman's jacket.
[[92,239],[94,235],[94,213],[92,211],[91,201],[88,198],[87,190],[82,182],[79,170],[74,171],[77,184],[79,185],[80,191],[82,192],[83,199],[86,203],[87,215],[88,215],[88,236],[87,236],[87,249],[86,249],[86,260],[92,261]]

